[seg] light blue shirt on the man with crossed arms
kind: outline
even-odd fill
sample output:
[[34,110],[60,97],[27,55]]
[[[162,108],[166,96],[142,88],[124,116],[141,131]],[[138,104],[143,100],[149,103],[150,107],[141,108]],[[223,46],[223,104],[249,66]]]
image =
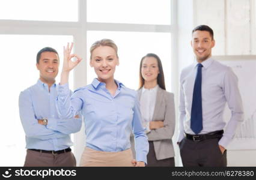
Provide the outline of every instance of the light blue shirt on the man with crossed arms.
[[[69,95],[71,95],[71,91]],[[70,133],[81,129],[82,119],[60,119],[56,112],[56,84],[49,87],[46,83],[38,82],[20,92],[19,111],[26,134],[27,149],[43,149],[58,151],[72,146]],[[47,125],[38,124],[37,119],[48,119]]]

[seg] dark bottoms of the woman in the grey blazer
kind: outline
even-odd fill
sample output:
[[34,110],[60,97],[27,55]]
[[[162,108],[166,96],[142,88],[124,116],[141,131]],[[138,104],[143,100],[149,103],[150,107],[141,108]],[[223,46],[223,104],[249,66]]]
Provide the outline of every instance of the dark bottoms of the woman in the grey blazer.
[[174,158],[166,158],[163,160],[157,160],[156,159],[156,153],[154,152],[154,143],[153,141],[149,141],[149,151],[148,151],[148,155],[147,155],[147,166],[148,167],[164,167],[164,166],[168,166],[168,167],[174,167],[175,163],[174,163]]

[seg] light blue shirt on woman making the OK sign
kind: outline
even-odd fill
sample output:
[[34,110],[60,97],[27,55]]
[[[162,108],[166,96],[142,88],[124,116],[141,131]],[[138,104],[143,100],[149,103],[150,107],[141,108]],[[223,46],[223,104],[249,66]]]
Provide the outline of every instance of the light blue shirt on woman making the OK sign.
[[69,85],[59,85],[56,104],[59,116],[70,118],[82,112],[85,118],[86,144],[96,151],[118,152],[130,148],[135,134],[136,160],[147,163],[148,140],[141,125],[137,92],[117,83],[112,96],[106,84],[97,79],[77,89],[69,97]]

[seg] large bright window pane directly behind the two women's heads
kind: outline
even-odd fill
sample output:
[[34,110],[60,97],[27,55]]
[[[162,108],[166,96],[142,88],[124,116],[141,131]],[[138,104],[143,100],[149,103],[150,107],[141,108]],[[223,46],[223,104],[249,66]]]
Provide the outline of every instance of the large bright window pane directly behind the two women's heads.
[[[171,34],[159,32],[103,32],[88,31],[88,49],[94,41],[110,38],[118,46],[120,65],[116,68],[115,79],[125,86],[138,89],[139,62],[147,53],[156,53],[162,61],[167,91],[171,91]],[[90,52],[87,52],[90,59]],[[93,68],[87,65],[88,83],[96,77]]]

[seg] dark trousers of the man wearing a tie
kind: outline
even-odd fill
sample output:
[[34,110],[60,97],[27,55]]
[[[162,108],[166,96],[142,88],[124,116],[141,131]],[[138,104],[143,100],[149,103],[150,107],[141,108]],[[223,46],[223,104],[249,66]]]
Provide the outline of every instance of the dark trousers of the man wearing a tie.
[[184,167],[226,167],[227,151],[222,154],[219,139],[194,142],[184,137],[179,143],[180,156]]

